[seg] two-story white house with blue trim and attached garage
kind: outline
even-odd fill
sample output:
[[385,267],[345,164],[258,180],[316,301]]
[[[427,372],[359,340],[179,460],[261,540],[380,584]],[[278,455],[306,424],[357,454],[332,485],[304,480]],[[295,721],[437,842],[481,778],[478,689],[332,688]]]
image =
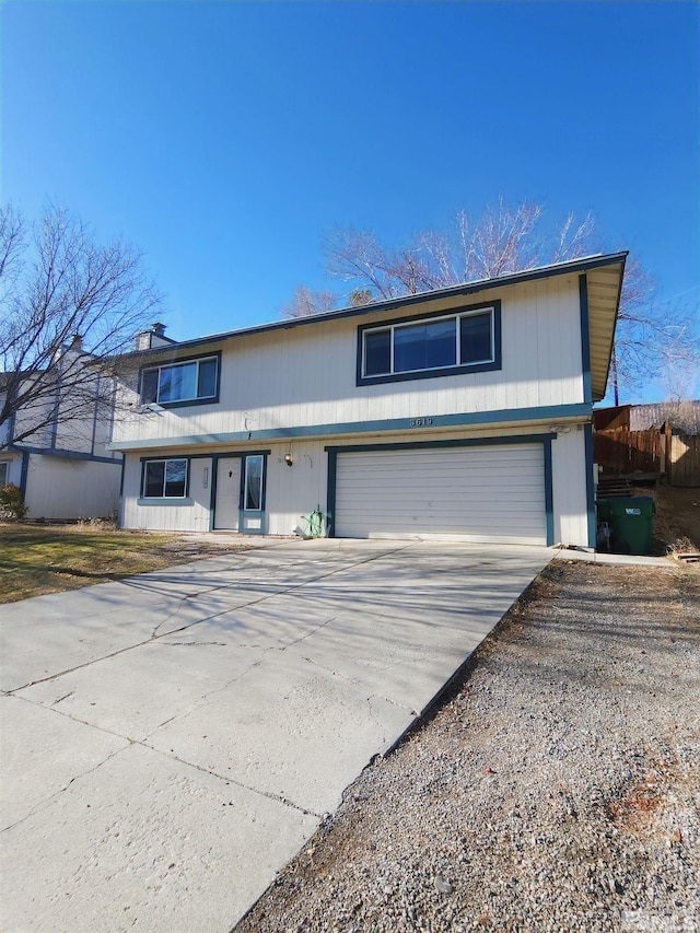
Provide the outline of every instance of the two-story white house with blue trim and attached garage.
[[142,351],[121,525],[593,547],[626,257]]

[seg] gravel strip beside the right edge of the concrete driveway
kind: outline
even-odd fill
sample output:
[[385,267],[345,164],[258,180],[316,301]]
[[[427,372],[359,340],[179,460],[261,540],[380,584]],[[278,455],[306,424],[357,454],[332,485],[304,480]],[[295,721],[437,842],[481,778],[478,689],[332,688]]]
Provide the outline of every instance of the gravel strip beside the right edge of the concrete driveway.
[[553,562],[236,933],[698,931],[700,573]]

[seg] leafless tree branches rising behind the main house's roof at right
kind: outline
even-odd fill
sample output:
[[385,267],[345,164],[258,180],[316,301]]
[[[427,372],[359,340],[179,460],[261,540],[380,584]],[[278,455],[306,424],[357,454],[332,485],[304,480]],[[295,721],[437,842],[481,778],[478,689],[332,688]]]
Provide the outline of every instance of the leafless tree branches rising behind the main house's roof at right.
[[[323,246],[326,271],[347,283],[350,295],[362,290],[368,301],[381,301],[600,252],[591,212],[583,219],[570,212],[549,226],[544,214],[540,205],[499,198],[475,221],[458,210],[450,230],[421,231],[398,248],[385,248],[370,231],[336,228]],[[697,339],[692,316],[661,303],[651,277],[628,261],[610,368],[616,405],[621,393],[660,375],[668,354],[697,361]]]

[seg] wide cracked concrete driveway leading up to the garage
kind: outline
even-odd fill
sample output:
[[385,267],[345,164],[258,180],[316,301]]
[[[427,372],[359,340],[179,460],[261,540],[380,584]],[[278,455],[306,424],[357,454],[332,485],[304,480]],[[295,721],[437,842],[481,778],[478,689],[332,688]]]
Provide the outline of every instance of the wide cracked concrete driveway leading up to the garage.
[[551,556],[283,541],[1,606],[3,933],[226,933]]

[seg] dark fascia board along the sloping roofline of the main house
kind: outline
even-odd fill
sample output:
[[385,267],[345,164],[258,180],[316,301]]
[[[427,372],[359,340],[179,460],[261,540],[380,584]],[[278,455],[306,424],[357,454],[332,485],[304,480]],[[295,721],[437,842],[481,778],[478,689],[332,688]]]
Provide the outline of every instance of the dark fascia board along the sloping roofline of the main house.
[[[506,288],[509,285],[530,282],[537,279],[548,279],[553,276],[565,276],[571,272],[584,272],[588,269],[597,269],[603,266],[612,266],[617,263],[622,263],[625,270],[625,261],[629,250],[619,253],[609,253],[599,256],[586,256],[583,259],[572,259],[569,263],[558,263],[553,266],[539,266],[535,269],[525,269],[522,272],[511,272],[508,276],[500,276],[494,279],[479,279],[476,282],[464,282],[459,285],[451,285],[446,289],[433,289],[428,292],[418,292],[417,294],[402,295],[401,298],[386,299],[381,302],[371,302],[359,307],[345,307],[338,311],[328,311],[323,314],[314,314],[307,317],[293,317],[287,320],[276,320],[271,324],[258,324],[253,327],[244,327],[240,330],[228,330],[222,334],[211,334],[206,337],[195,337],[191,340],[183,340],[176,342],[172,347],[152,347],[148,350],[133,350],[129,353],[121,354],[118,359],[143,358],[158,355],[162,353],[172,353],[174,350],[188,350],[192,347],[201,347],[208,343],[222,343],[234,337],[252,337],[257,334],[267,334],[275,330],[292,330],[295,327],[304,327],[313,324],[320,324],[326,320],[338,320],[346,317],[357,317],[368,312],[375,311],[392,311],[396,307],[406,307],[407,305],[422,304],[427,301],[435,301],[445,298],[460,298],[477,292],[489,291],[491,289]],[[621,278],[620,278],[621,282]],[[618,293],[619,307],[619,293]],[[616,313],[617,317],[617,313]],[[609,365],[608,365],[609,370]]]

